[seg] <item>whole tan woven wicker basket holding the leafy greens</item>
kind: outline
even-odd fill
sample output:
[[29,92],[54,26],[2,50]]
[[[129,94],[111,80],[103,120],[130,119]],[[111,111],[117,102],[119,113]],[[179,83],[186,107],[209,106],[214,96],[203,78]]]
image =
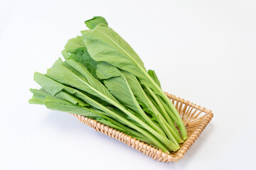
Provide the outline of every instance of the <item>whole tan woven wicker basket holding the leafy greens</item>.
[[185,101],[183,98],[179,98],[168,93],[166,93],[166,95],[170,98],[172,103],[174,103],[178,113],[180,113],[188,132],[188,139],[186,142],[181,144],[180,149],[178,149],[176,152],[171,152],[170,154],[164,153],[161,151],[161,149],[157,149],[146,144],[145,142],[136,140],[136,138],[125,135],[123,132],[110,128],[107,125],[97,122],[96,120],[86,118],[82,115],[72,115],[78,118],[78,120],[80,120],[82,123],[94,128],[96,131],[100,131],[105,135],[117,139],[129,147],[132,146],[139,152],[142,152],[143,154],[146,154],[159,162],[178,162],[178,159],[183,158],[184,154],[201,135],[201,132],[203,132],[206,125],[208,125],[210,120],[213,118],[213,113],[206,108],[202,108],[201,106],[197,106],[189,101]]

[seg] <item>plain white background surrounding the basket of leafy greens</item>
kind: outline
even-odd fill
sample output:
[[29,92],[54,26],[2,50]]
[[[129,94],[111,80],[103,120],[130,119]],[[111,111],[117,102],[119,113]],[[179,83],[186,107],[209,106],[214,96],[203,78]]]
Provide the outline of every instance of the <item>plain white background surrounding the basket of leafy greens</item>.
[[[0,1],[0,169],[254,169],[255,1]],[[33,72],[104,16],[164,91],[213,111],[178,163],[156,162],[68,113],[29,105]]]

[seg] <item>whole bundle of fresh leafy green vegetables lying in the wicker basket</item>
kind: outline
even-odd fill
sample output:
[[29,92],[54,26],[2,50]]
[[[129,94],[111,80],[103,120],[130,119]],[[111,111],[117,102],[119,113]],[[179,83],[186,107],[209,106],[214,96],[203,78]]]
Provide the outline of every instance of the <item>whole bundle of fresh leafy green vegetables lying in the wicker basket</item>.
[[105,18],[85,24],[90,30],[65,45],[64,62],[59,58],[46,74],[34,74],[41,89],[31,89],[29,103],[85,115],[163,152],[176,151],[188,135],[156,73],[146,71]]

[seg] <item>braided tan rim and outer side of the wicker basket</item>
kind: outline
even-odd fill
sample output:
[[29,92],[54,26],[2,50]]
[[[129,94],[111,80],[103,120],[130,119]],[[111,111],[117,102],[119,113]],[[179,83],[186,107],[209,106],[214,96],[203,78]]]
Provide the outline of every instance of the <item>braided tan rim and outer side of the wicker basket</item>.
[[203,115],[201,123],[199,123],[197,128],[193,130],[193,132],[191,132],[191,135],[189,135],[188,139],[183,143],[183,145],[176,152],[171,152],[170,154],[162,152],[161,149],[152,147],[151,145],[140,140],[137,140],[136,138],[132,138],[131,136],[124,134],[124,132],[120,132],[119,130],[116,130],[103,123],[98,122],[97,120],[87,118],[84,115],[75,115],[73,113],[71,113],[71,115],[74,115],[82,123],[85,123],[91,128],[94,128],[96,131],[100,131],[105,135],[115,138],[120,142],[123,142],[124,144],[128,145],[129,147],[132,146],[134,149],[137,149],[139,152],[142,152],[143,154],[146,154],[149,157],[152,157],[153,159],[157,159],[160,162],[178,162],[178,160],[183,158],[188,149],[201,135],[201,132],[203,132],[203,130],[206,128],[206,125],[210,123],[210,120],[213,118],[213,112],[194,103],[191,103],[190,101],[185,101],[185,99],[183,98],[179,98],[175,95],[166,92],[165,94],[170,99],[173,99],[173,103],[174,101],[177,101],[177,103],[180,102],[181,105],[185,104],[187,106],[195,108],[196,110],[200,111],[200,114],[205,113]]

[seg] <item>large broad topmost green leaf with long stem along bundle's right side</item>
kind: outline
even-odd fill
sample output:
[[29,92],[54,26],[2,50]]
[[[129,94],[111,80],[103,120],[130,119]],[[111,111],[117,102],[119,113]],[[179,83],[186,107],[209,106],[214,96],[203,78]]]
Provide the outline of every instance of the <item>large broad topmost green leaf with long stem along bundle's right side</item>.
[[154,94],[161,96],[171,112],[178,118],[178,123],[181,125],[181,134],[183,139],[186,140],[188,135],[181,116],[178,114],[173,103],[161,90],[161,87],[146,72],[142,60],[132,50],[132,47],[111,28],[99,25],[92,30],[85,30],[81,33],[85,46],[93,60],[96,62],[108,62],[114,67],[134,74],[141,84],[152,89]]

